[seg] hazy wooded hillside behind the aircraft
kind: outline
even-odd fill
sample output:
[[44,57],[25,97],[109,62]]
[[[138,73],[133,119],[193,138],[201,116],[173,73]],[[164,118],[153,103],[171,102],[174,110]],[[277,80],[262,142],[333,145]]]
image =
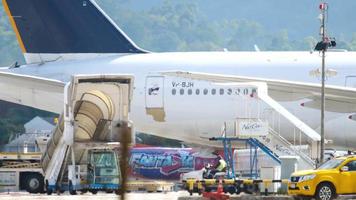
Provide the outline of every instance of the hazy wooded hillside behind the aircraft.
[[[97,0],[141,47],[151,51],[310,50],[318,35],[310,0]],[[330,1],[329,32],[356,49],[356,1]],[[23,61],[0,6],[0,66]]]

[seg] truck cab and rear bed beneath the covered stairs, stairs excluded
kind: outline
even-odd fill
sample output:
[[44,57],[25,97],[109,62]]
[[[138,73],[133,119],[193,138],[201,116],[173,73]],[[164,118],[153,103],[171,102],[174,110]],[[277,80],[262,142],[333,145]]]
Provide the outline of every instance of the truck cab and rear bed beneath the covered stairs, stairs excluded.
[[[99,190],[119,193],[121,170],[117,151],[111,148],[92,148],[87,150],[87,164],[68,165],[68,177],[62,191],[70,194],[77,191]],[[0,192],[26,190],[29,193],[45,191],[44,173],[41,168],[40,152],[0,153]]]

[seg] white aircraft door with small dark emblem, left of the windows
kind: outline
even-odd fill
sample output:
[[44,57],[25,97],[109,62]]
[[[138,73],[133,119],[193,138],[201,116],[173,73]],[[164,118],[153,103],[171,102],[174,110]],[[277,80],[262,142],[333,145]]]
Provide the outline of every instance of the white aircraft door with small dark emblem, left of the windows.
[[164,107],[164,77],[147,76],[146,77],[146,108]]

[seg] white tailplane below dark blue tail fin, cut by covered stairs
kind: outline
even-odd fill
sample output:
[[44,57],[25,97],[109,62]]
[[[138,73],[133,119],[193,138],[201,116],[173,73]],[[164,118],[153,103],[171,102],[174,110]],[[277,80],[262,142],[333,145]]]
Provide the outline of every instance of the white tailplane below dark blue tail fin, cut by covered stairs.
[[54,113],[63,112],[65,83],[35,76],[0,72],[0,99]]

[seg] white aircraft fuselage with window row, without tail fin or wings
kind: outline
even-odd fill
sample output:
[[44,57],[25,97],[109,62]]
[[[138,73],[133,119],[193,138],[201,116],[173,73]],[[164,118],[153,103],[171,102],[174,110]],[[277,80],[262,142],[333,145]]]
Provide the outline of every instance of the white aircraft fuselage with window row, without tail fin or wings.
[[[326,84],[356,87],[355,58],[354,52],[327,53],[327,68],[336,70],[337,75],[328,77]],[[75,74],[132,74],[135,81],[130,117],[137,131],[205,144],[205,137],[220,134],[225,121],[247,118],[256,115],[256,112],[268,115],[267,109],[257,111],[258,103],[250,98],[251,91],[229,94],[229,86],[162,76],[159,72],[180,70],[320,83],[319,77],[309,75],[320,64],[321,58],[317,52],[187,52],[56,61],[8,71],[64,82]],[[158,84],[159,89],[148,84]],[[149,89],[153,93],[161,89],[161,93],[150,96]],[[207,94],[204,94],[204,90],[207,90]],[[318,131],[320,110],[300,106],[303,101],[280,103]],[[163,112],[150,109],[155,107],[163,107]],[[350,114],[353,113],[326,113],[326,138],[333,141],[331,146],[343,149],[354,147],[356,121],[348,119]],[[283,119],[277,117],[275,120],[279,120],[277,127],[284,137],[290,141],[299,137]]]

